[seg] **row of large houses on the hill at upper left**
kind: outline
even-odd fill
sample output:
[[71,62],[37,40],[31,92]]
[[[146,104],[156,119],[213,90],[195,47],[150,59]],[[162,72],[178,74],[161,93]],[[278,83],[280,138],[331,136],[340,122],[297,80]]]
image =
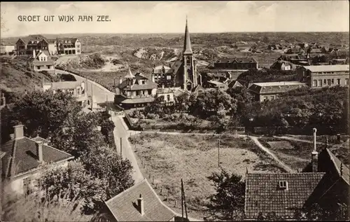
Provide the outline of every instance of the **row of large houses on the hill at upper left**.
[[81,43],[77,38],[48,39],[42,35],[20,37],[18,41],[1,42],[1,54],[13,53],[16,55],[31,56],[33,50],[45,50],[48,55],[81,54]]

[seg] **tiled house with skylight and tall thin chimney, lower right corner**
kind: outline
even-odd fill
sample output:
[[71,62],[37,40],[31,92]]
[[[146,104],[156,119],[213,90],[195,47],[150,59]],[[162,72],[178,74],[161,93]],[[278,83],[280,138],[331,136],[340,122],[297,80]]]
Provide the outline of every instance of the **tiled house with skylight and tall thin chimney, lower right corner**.
[[349,187],[349,167],[328,148],[318,153],[314,129],[311,162],[302,172],[247,172],[245,218],[257,221],[260,215],[274,213],[277,217],[295,220],[296,211],[308,209],[314,203],[334,211],[338,204],[349,203]]

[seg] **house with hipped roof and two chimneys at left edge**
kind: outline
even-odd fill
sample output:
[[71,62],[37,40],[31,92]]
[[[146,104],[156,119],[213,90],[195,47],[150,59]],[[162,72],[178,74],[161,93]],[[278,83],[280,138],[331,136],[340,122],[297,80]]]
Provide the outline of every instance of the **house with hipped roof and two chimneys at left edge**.
[[41,137],[25,137],[24,125],[15,125],[11,139],[1,146],[5,152],[2,165],[5,193],[27,195],[36,190],[41,165],[62,167],[68,165],[73,156],[48,145]]

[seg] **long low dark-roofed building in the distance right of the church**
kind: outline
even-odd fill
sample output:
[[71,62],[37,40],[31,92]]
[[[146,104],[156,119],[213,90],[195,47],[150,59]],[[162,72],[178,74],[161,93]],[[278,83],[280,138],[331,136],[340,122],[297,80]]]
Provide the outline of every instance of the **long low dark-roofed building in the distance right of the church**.
[[214,69],[258,69],[258,62],[256,62],[253,57],[234,57],[229,59],[221,59],[214,62]]

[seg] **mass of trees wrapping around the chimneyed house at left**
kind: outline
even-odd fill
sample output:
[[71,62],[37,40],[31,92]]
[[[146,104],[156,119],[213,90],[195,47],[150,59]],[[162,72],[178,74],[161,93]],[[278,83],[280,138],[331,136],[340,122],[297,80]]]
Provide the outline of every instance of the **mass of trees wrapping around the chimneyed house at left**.
[[94,214],[134,184],[130,161],[116,151],[110,117],[108,111],[84,113],[68,93],[33,91],[1,110],[1,142],[8,141],[10,129],[21,123],[25,136],[39,135],[50,141],[48,145],[73,155],[68,167],[44,165],[37,188],[48,200],[75,197],[83,213]]

